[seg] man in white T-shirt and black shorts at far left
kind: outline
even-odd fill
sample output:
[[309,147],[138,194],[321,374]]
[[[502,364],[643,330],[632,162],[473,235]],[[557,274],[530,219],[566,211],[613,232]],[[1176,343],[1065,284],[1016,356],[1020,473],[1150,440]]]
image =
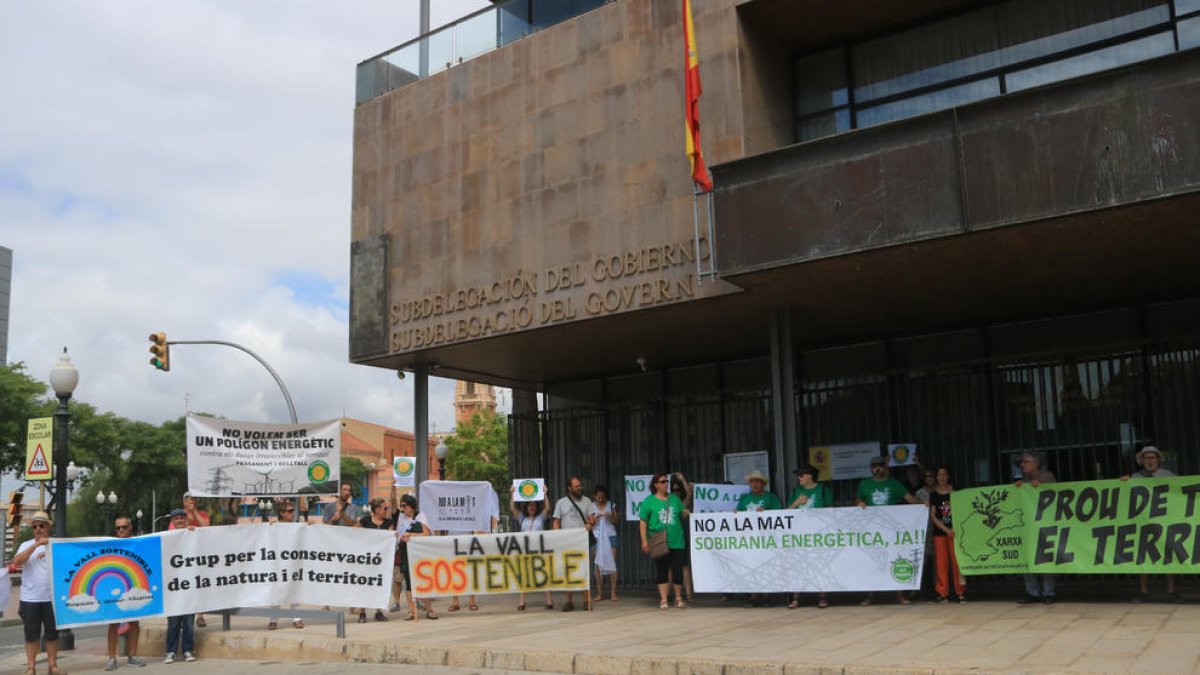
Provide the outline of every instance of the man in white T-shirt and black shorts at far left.
[[50,675],[59,670],[59,628],[54,620],[54,603],[50,596],[50,526],[54,521],[40,510],[29,519],[34,537],[24,542],[12,565],[20,567],[20,615],[25,625],[25,673],[35,673],[38,643],[46,638],[46,659]]

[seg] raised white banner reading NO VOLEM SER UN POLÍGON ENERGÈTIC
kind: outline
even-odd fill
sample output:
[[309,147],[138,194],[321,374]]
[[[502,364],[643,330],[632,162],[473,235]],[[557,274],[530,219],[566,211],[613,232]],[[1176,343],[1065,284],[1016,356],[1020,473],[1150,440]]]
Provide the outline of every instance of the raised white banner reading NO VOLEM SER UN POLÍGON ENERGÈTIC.
[[197,497],[335,494],[341,459],[336,419],[258,424],[187,416],[187,490]]

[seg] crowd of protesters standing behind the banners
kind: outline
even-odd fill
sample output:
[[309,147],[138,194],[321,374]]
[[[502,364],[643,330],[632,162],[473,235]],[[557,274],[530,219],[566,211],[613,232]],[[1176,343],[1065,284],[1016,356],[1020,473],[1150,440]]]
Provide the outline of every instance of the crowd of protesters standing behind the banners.
[[[1163,468],[1163,454],[1158,448],[1147,446],[1136,453],[1138,471],[1121,476],[1122,480],[1159,478],[1175,476]],[[1054,483],[1055,474],[1043,466],[1044,460],[1037,453],[1025,453],[1020,456],[1020,478],[1015,480],[1016,486],[1028,484],[1037,488],[1042,484]],[[870,476],[864,478],[856,491],[856,503],[862,508],[892,506],[901,503],[920,503],[929,508],[929,533],[926,538],[928,565],[926,572],[931,577],[932,590],[930,602],[942,604],[967,602],[966,579],[959,572],[954,552],[954,515],[950,508],[950,495],[954,485],[950,482],[950,472],[946,467],[926,470],[919,464],[910,465],[905,468],[905,480],[892,476],[886,456],[875,458],[870,461]],[[802,466],[796,471],[796,486],[791,490],[786,501],[768,490],[769,478],[761,471],[754,471],[745,477],[749,490],[738,497],[736,510],[763,512],[775,509],[808,509],[827,508],[834,506],[832,490],[828,484],[818,482],[820,472],[812,466]],[[592,491],[592,497],[583,494],[583,483],[578,477],[568,479],[566,492],[551,507],[550,496],[540,502],[516,502],[510,495],[509,509],[512,514],[514,528],[521,532],[539,532],[547,528],[586,528],[592,537],[592,565],[595,575],[594,595],[590,601],[605,599],[605,581],[607,580],[607,599],[618,601],[617,593],[617,554],[619,550],[618,524],[620,512],[617,504],[610,498],[608,490],[604,485],[596,485]],[[307,507],[308,501],[300,498],[276,500],[274,512],[277,513],[278,521],[310,521],[307,508],[302,514],[296,514],[296,504]],[[367,502],[367,509],[354,503],[353,486],[349,483],[340,485],[338,495],[331,503],[324,504],[320,520],[329,526],[362,527],[373,530],[388,530],[396,532],[396,552],[394,561],[394,584],[391,605],[388,610],[395,613],[401,609],[401,599],[407,601],[406,621],[414,621],[420,613],[426,619],[438,619],[433,608],[432,598],[414,598],[412,579],[409,573],[408,542],[413,537],[427,537],[434,532],[430,530],[428,520],[418,508],[416,497],[412,494],[391,498],[373,498]],[[659,608],[666,610],[672,601],[676,608],[684,609],[694,602],[691,590],[691,569],[689,566],[689,528],[686,519],[690,516],[692,507],[692,486],[682,473],[655,473],[650,479],[650,494],[642,501],[637,509],[641,551],[654,561],[655,584],[658,587]],[[498,522],[498,514],[491,514],[491,524],[494,530]],[[209,514],[202,510],[197,501],[191,495],[184,495],[182,507],[170,512],[170,530],[194,530],[211,524]],[[17,550],[12,563],[23,571],[20,585],[20,617],[24,623],[25,655],[28,659],[26,673],[34,673],[35,659],[40,651],[40,641],[44,639],[49,673],[61,673],[58,667],[58,638],[59,633],[54,621],[54,609],[50,602],[49,563],[47,558],[47,544],[49,530],[53,525],[50,516],[46,512],[37,512],[30,519],[32,538],[24,542]],[[128,516],[121,515],[114,520],[114,533],[116,537],[130,537],[132,534],[132,522]],[[1176,592],[1176,579],[1174,575],[1163,575],[1166,584],[1168,598],[1172,602],[1181,602]],[[1056,597],[1056,579],[1054,574],[1025,574],[1025,595],[1018,601],[1020,604],[1052,604]],[[1148,575],[1140,575],[1139,593],[1135,602],[1141,602],[1148,596]],[[800,593],[788,595],[787,608],[800,607]],[[584,598],[587,599],[587,598]],[[732,599],[725,596],[722,599]],[[868,605],[874,602],[874,595],[866,593],[859,604]],[[910,604],[911,599],[904,592],[896,595],[896,602]],[[751,593],[748,598],[748,607],[764,607],[768,597],[761,593]],[[294,607],[294,605],[293,605]],[[545,609],[556,608],[552,595],[545,593]],[[817,608],[829,607],[827,593],[820,593]],[[566,592],[563,611],[571,611],[575,607],[574,593]],[[280,614],[284,614],[282,608]],[[329,609],[329,608],[325,608]],[[388,621],[385,608],[373,608],[376,621]],[[454,598],[449,610],[458,609],[458,598]],[[469,609],[475,610],[478,605],[474,596],[469,598]],[[524,611],[526,593],[518,596],[516,609]],[[367,621],[368,608],[350,608],[358,614],[358,621]],[[167,625],[167,655],[164,663],[173,663],[176,655],[181,652],[185,661],[196,661],[194,629],[204,627],[204,616],[185,615],[170,616]],[[301,619],[293,619],[294,628],[304,628]],[[278,617],[272,616],[268,623],[268,629],[278,627]],[[145,665],[138,655],[138,622],[114,623],[108,627],[108,662],[106,670],[114,670],[118,667],[116,647],[120,637],[126,640],[126,663],[132,667]]]

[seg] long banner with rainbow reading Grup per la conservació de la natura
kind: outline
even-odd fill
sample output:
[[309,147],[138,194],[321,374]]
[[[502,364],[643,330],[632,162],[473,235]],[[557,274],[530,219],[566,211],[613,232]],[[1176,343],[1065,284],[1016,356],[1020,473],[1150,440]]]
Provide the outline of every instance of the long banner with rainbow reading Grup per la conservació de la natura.
[[50,542],[60,627],[235,607],[386,607],[394,532],[257,522]]

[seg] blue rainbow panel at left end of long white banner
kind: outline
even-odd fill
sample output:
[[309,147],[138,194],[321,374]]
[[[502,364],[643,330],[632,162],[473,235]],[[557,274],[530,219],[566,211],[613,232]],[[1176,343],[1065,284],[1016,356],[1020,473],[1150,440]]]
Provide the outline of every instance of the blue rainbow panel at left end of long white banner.
[[59,627],[114,623],[163,614],[162,540],[55,540],[50,546]]

